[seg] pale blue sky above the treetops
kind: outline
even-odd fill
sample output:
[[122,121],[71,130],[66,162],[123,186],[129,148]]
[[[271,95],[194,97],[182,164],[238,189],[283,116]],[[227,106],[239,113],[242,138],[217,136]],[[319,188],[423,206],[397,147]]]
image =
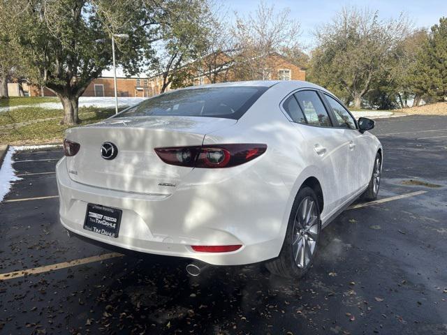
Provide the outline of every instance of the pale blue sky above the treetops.
[[[224,3],[230,12],[236,10],[241,15],[256,9],[260,0],[217,0]],[[290,8],[291,17],[301,23],[302,40],[312,43],[312,31],[318,24],[331,19],[337,10],[346,5],[356,5],[379,10],[383,18],[397,17],[402,11],[411,18],[415,27],[431,27],[439,22],[439,17],[447,17],[447,0],[265,0],[275,8]]]

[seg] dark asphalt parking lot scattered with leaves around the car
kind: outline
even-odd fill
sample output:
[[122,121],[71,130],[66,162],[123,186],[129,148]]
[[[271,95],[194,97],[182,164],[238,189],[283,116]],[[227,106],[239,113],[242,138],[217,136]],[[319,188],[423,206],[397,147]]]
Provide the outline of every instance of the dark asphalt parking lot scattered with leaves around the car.
[[1,334],[447,334],[447,117],[379,119],[373,133],[380,201],[333,221],[300,281],[260,265],[193,278],[185,260],[69,238],[61,149],[17,151],[22,180],[0,204]]

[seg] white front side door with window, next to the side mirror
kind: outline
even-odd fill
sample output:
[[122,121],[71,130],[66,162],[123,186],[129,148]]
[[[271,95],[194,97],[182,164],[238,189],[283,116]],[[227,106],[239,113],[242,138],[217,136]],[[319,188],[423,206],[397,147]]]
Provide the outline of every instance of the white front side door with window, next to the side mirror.
[[335,117],[336,127],[342,129],[343,136],[348,142],[348,179],[351,193],[356,193],[369,181],[369,165],[374,158],[370,158],[367,137],[358,131],[356,120],[351,113],[337,99],[324,94],[325,100]]

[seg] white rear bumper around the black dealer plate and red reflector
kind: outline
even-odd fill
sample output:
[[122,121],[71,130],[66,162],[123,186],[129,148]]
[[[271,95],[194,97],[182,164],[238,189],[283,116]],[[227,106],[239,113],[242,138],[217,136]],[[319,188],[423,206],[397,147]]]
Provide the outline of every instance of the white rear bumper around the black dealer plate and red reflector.
[[[208,179],[203,172],[193,171],[173,194],[137,194],[75,182],[62,158],[56,168],[61,224],[81,237],[119,248],[212,265],[244,265],[277,257],[284,241],[288,199],[284,184],[264,181],[256,169],[233,170],[227,178],[229,169],[221,170],[221,175]],[[247,192],[254,185],[256,192]],[[122,209],[119,237],[82,228],[87,203]],[[228,253],[199,253],[191,248],[233,244],[242,247]]]

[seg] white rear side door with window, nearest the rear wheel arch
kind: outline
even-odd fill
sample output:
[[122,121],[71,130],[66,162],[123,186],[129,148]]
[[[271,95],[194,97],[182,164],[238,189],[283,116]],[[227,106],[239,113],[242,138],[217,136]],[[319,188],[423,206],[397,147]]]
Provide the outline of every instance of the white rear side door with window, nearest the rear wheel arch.
[[304,142],[297,145],[304,147],[309,160],[323,171],[324,213],[330,214],[346,200],[350,190],[349,148],[344,130],[333,126],[330,113],[316,90],[295,92],[284,101],[283,108],[304,138]]

